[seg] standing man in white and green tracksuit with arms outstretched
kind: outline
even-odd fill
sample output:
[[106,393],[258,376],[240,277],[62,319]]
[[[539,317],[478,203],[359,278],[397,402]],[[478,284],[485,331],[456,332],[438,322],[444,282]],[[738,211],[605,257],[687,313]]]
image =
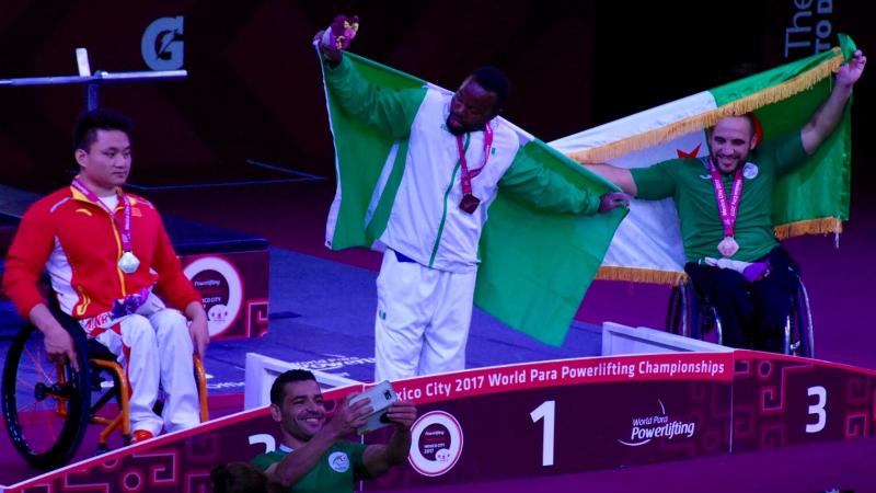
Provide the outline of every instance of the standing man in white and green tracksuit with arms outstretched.
[[[560,213],[608,211],[623,200],[619,194],[601,200],[519,152],[531,137],[494,118],[507,95],[507,79],[497,69],[476,70],[456,94],[430,88],[387,91],[361,78],[341,51],[323,46],[323,54],[333,101],[369,125],[407,138],[404,174],[379,239],[387,249],[377,280],[374,379],[463,369],[477,244],[498,186]],[[480,199],[472,213],[460,205],[465,169],[460,148],[465,168],[480,170],[471,180],[471,195]]]

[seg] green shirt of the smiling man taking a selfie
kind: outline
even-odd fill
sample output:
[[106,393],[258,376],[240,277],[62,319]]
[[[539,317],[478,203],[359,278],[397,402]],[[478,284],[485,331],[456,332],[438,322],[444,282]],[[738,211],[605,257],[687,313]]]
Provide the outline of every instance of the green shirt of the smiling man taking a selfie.
[[[338,442],[322,455],[316,466],[300,481],[289,488],[295,493],[350,493],[356,481],[370,479],[365,469],[362,455],[365,444]],[[279,462],[289,454],[286,447],[262,454],[250,463],[267,471],[267,468]]]

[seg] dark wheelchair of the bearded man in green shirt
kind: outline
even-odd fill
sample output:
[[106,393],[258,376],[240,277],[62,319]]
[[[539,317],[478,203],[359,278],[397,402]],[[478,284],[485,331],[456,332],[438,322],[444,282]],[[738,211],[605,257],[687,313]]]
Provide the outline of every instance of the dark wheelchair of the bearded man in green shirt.
[[[799,273],[794,273],[797,289],[785,322],[782,347],[784,354],[815,357],[815,335],[809,295]],[[717,310],[699,293],[691,278],[684,274],[672,286],[666,317],[667,330],[673,334],[723,344],[723,329]]]

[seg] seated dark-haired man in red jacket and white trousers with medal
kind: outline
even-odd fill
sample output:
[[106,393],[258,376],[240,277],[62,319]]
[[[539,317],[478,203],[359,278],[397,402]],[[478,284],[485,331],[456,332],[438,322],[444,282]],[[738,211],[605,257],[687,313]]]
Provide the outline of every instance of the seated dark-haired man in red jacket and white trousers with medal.
[[[37,287],[43,271],[49,274],[61,310],[126,366],[131,428],[141,440],[162,425],[171,432],[199,422],[193,339],[203,355],[209,332],[201,297],[183,274],[158,210],[120,188],[130,170],[129,129],[127,118],[104,110],[80,117],[80,174],[25,213],[3,290],[43,332],[49,356],[70,357],[70,336]],[[164,301],[182,309],[191,326]],[[159,383],[168,394],[161,417],[152,412]]]

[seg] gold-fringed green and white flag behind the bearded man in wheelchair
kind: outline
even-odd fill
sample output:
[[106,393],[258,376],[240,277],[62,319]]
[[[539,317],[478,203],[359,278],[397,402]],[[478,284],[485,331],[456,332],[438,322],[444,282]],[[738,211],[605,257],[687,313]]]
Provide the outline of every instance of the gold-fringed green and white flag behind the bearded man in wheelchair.
[[[657,106],[551,142],[579,162],[639,168],[667,159],[708,154],[704,128],[724,116],[753,112],[763,139],[800,128],[827,100],[830,77],[855,51],[840,35],[841,48]],[[781,177],[773,197],[779,238],[839,233],[849,219],[851,125],[842,121],[818,151]],[[684,251],[671,198],[633,200],[618,229],[599,277],[675,284],[683,276]]]

